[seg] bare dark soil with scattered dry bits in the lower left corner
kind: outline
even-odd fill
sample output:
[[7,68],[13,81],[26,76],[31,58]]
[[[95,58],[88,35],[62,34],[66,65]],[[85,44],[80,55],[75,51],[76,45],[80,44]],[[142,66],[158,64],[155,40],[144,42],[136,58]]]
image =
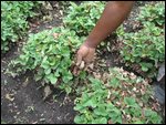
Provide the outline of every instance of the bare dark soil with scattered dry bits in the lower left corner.
[[13,48],[1,60],[1,122],[72,124],[74,96],[69,98],[54,88],[52,96],[43,101],[43,87],[33,80],[32,72],[14,79],[6,74],[8,63],[18,54],[18,48]]

